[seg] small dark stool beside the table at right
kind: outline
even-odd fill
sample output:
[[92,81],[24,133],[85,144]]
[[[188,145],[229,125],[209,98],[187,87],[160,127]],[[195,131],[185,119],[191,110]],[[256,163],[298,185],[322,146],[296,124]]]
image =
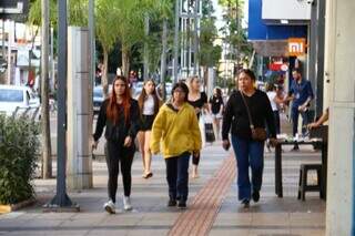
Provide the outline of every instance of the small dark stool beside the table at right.
[[[308,185],[307,176],[308,171],[317,172],[317,184]],[[322,164],[302,164],[300,168],[300,182],[298,182],[298,199],[305,201],[306,192],[320,192],[320,197],[322,198]]]

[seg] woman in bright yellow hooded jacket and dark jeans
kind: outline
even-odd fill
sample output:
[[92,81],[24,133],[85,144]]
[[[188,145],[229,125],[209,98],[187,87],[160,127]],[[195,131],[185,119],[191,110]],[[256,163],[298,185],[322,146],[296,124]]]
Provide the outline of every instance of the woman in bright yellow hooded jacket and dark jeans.
[[[189,160],[201,150],[201,134],[194,109],[187,103],[189,89],[183,82],[172,89],[172,101],[159,111],[152,127],[151,151],[162,148],[169,185],[168,206],[186,207]],[[178,202],[176,202],[178,201]]]

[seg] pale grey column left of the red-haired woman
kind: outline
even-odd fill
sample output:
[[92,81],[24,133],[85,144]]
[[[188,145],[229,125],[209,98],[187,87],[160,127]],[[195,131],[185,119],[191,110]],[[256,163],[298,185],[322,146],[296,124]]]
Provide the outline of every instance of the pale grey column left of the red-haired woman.
[[92,187],[92,160],[89,141],[89,30],[68,29],[68,186],[73,189]]

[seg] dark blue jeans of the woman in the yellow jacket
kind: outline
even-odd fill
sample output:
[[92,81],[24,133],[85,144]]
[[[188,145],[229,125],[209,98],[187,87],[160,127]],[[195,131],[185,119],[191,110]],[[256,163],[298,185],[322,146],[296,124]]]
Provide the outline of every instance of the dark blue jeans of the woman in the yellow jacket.
[[165,158],[169,197],[186,201],[189,195],[189,161],[190,153]]

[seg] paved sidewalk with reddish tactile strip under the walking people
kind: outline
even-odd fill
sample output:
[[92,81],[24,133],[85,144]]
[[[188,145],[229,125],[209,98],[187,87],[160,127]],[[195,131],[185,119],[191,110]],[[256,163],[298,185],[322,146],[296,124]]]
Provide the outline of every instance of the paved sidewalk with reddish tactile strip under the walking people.
[[[291,148],[291,147],[290,147]],[[154,156],[154,176],[143,179],[138,154],[132,168],[134,211],[108,215],[102,205],[106,196],[106,166],[93,162],[93,189],[69,191],[79,203],[80,213],[42,213],[41,206],[54,196],[55,179],[36,179],[36,206],[0,215],[0,235],[324,235],[325,202],[317,193],[297,201],[301,163],[321,162],[311,146],[283,153],[284,197],[274,193],[274,153],[265,154],[261,201],[245,211],[237,202],[235,158],[221,144],[207,145],[202,152],[200,178],[190,179],[186,211],[168,208],[165,164]],[[55,166],[55,165],[54,165]],[[55,173],[55,171],[54,171]],[[314,176],[311,176],[314,181]],[[122,184],[119,179],[118,203],[122,209]]]

